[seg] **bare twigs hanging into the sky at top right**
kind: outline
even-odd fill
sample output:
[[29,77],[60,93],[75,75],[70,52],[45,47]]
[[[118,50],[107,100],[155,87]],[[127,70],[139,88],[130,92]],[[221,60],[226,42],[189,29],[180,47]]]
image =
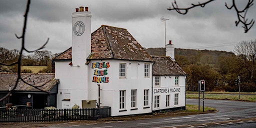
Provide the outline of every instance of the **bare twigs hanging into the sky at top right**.
[[[190,7],[180,8],[180,7],[178,7],[176,0],[174,0],[174,2],[171,3],[172,6],[170,6],[167,9],[168,10],[176,10],[180,14],[186,14],[189,9],[197,7],[197,6],[204,7],[207,3],[210,3],[212,1],[214,1],[214,0],[207,0],[202,3],[198,2],[197,4],[191,3]],[[239,10],[235,4],[235,0],[232,0],[231,6],[228,6],[227,3],[225,2],[225,6],[227,9],[232,9],[232,8],[235,9],[236,15],[237,15],[237,20],[235,21],[235,25],[237,26],[239,23],[241,23],[242,27],[244,28],[244,33],[246,33],[255,22],[255,20],[253,20],[253,19],[248,21],[248,19],[246,18],[246,13],[247,13],[249,7],[251,7],[252,5],[253,5],[253,0],[248,0],[246,6],[243,9]]]

